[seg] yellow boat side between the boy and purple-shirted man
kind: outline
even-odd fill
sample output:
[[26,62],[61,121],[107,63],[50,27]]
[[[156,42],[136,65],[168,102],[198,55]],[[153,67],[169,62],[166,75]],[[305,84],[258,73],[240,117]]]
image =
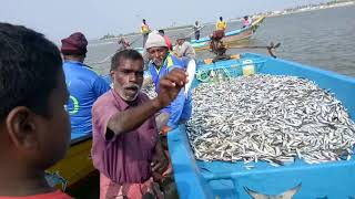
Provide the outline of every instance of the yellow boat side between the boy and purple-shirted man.
[[51,185],[65,190],[78,185],[94,171],[90,158],[92,136],[71,135],[70,149],[64,159],[57,163],[48,170],[51,175]]

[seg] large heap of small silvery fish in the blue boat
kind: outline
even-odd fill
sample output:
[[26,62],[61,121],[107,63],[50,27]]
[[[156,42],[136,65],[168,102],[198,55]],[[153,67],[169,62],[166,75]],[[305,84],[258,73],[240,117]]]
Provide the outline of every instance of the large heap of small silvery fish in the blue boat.
[[349,159],[355,125],[342,103],[304,78],[240,76],[200,84],[186,125],[196,159],[273,166]]

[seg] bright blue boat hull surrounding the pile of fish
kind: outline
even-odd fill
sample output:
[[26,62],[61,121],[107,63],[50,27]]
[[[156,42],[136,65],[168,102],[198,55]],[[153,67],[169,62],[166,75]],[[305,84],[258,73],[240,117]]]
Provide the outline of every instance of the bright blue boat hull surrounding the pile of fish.
[[[193,87],[207,82],[207,71],[224,70],[231,76],[250,74],[292,75],[314,81],[332,92],[355,119],[355,78],[317,67],[254,53],[242,53],[232,60],[197,63]],[[196,160],[184,125],[168,134],[169,151],[180,198],[251,198],[247,189],[267,196],[280,196],[297,187],[293,198],[354,198],[355,157],[323,164],[293,164],[274,167],[257,161],[246,169],[243,161]],[[278,197],[283,198],[283,197]],[[287,198],[284,196],[284,198]],[[288,197],[290,198],[290,197]]]

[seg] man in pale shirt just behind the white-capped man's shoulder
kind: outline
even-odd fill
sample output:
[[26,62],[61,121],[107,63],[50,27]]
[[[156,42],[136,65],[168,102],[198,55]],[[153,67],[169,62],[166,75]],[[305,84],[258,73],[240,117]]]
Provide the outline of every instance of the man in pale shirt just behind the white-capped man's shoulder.
[[195,60],[195,50],[193,49],[191,43],[186,41],[184,34],[179,34],[176,39],[174,55],[176,55],[178,57],[186,57],[187,60]]

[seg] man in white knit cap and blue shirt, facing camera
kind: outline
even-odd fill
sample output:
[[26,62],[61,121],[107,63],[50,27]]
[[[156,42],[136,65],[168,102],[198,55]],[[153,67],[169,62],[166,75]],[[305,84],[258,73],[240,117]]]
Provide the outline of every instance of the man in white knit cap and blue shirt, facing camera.
[[[159,93],[160,78],[175,67],[185,69],[185,65],[180,59],[169,53],[164,38],[158,33],[149,34],[145,49],[151,57],[149,71],[155,85],[155,92]],[[172,128],[175,128],[179,124],[187,121],[191,117],[191,92],[189,92],[187,96],[185,96],[184,91],[181,90],[178,97],[169,106],[161,111],[162,113],[169,115],[168,124],[162,129],[163,134]]]

